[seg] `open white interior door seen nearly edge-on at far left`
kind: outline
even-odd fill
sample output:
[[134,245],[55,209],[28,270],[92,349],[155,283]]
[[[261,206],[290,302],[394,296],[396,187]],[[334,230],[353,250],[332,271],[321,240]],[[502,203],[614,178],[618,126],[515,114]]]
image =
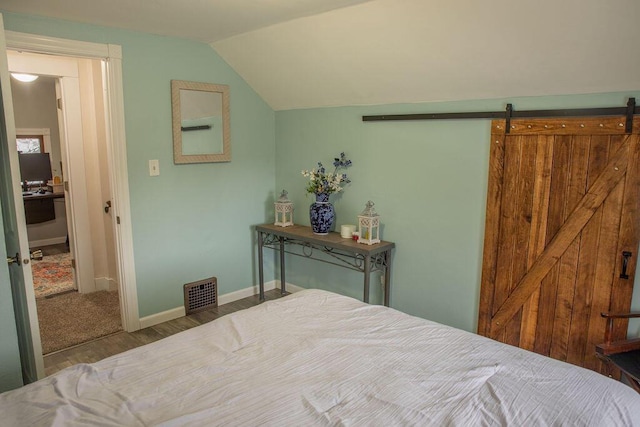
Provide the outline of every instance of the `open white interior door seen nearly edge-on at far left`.
[[0,202],[7,254],[17,254],[9,266],[9,277],[18,332],[18,345],[25,383],[44,376],[40,329],[36,315],[36,299],[31,274],[29,242],[20,188],[20,168],[15,144],[15,124],[11,100],[11,84],[7,65],[4,26],[0,15]]

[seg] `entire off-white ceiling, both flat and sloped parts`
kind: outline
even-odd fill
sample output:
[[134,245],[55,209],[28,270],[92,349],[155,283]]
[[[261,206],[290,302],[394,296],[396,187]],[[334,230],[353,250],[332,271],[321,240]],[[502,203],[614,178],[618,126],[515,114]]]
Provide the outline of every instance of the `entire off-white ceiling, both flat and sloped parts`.
[[638,0],[0,0],[211,46],[275,110],[640,89]]

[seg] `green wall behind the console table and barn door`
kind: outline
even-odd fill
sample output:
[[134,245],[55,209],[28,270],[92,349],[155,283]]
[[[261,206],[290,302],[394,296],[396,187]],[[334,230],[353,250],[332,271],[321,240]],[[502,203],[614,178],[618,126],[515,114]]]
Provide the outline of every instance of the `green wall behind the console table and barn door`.
[[[294,221],[309,224],[302,169],[329,165],[345,151],[352,179],[333,195],[337,230],[355,224],[367,200],[382,218],[382,238],[396,243],[391,306],[475,331],[489,160],[489,120],[363,122],[363,115],[624,106],[640,92],[515,98],[276,113],[276,189],[294,202]],[[362,297],[362,276],[292,257],[287,282]],[[636,282],[640,281],[640,274]],[[379,280],[375,297],[381,301]],[[638,290],[636,286],[636,290]],[[640,309],[639,292],[634,307]],[[375,299],[373,301],[376,301]]]

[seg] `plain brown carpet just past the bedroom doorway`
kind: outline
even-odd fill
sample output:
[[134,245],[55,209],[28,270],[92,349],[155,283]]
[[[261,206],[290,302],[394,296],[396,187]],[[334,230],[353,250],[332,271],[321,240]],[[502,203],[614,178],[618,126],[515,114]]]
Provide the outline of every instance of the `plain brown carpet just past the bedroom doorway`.
[[117,291],[38,298],[37,307],[43,354],[122,330]]

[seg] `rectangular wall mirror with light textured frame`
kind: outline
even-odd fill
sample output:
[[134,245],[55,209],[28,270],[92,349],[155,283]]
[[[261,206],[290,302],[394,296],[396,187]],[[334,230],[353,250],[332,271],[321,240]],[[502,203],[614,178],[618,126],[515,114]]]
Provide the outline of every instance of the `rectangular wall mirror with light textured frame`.
[[231,161],[229,86],[171,80],[173,162]]

